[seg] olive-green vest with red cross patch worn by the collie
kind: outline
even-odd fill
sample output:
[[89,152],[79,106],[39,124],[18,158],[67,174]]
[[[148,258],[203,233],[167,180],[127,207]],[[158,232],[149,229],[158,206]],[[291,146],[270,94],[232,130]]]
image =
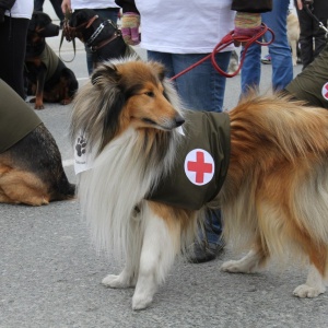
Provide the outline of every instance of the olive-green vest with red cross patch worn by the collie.
[[183,126],[178,157],[149,200],[199,210],[219,194],[230,162],[230,118],[226,113],[191,112]]

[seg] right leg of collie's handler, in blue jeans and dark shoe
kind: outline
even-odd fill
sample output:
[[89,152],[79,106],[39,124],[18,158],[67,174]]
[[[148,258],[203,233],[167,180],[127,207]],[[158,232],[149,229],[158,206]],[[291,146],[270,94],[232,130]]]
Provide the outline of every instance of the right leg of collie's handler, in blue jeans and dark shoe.
[[[202,59],[206,55],[173,55],[174,73],[177,74],[187,67]],[[215,55],[216,63],[227,70],[231,51]],[[222,112],[226,78],[219,74],[210,60],[202,62],[191,71],[176,80],[178,94],[185,105],[194,110]],[[200,232],[201,244],[196,243],[191,262],[204,262],[216,257],[223,248],[221,241],[221,212],[209,211],[206,216],[206,236]]]

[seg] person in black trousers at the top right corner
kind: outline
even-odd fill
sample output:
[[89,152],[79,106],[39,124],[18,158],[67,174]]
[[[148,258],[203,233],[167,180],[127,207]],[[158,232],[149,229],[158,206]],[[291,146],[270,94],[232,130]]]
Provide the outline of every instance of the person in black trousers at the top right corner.
[[317,21],[311,16],[306,8],[327,27],[328,1],[327,0],[295,0],[300,22],[300,46],[303,70],[320,54],[325,48],[326,32],[319,27]]

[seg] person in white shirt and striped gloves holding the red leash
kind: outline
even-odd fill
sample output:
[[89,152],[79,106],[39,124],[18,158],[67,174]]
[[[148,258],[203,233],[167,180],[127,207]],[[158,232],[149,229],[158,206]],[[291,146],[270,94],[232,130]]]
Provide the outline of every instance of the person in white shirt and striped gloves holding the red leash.
[[[270,1],[256,2],[257,7],[258,3]],[[140,46],[147,49],[149,60],[160,61],[165,66],[167,78],[174,77],[212,52],[223,36],[234,30],[235,11],[232,9],[241,9],[246,13],[249,9],[248,3],[245,5],[243,0],[116,0],[116,3],[122,8],[121,31],[125,40],[130,45],[139,43],[138,28],[141,22]],[[269,5],[268,10],[270,9]],[[251,10],[256,11],[254,7]],[[247,22],[249,16],[254,15],[248,14]],[[254,21],[250,19],[247,28],[243,28],[241,24],[237,32],[256,34],[260,28],[260,15],[255,16]],[[225,71],[233,49],[234,46],[230,45],[215,54],[218,65]],[[222,112],[225,80],[225,77],[214,70],[211,61],[207,60],[176,79],[174,83],[187,108]],[[196,243],[191,262],[212,260],[224,246],[221,239],[220,211],[209,213],[206,225],[206,236],[200,236],[201,244]]]

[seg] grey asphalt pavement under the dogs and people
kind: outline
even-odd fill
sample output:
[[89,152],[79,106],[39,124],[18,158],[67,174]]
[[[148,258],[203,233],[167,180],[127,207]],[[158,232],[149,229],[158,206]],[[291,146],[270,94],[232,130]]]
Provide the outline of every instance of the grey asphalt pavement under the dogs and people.
[[[57,51],[59,37],[48,39]],[[87,80],[83,45],[67,62],[80,85]],[[145,56],[144,50],[136,50]],[[265,51],[266,49],[263,49]],[[61,48],[72,59],[72,45]],[[295,74],[301,66],[294,68]],[[270,89],[271,67],[262,66],[261,92]],[[239,77],[227,81],[224,107],[239,95]],[[32,106],[32,105],[31,105]],[[71,105],[46,104],[37,114],[55,137],[65,169],[75,181],[68,138]],[[37,150],[35,150],[37,151]],[[293,327],[328,326],[328,295],[300,300],[292,295],[304,283],[306,269],[273,261],[255,274],[220,272],[224,260],[239,258],[227,245],[214,261],[191,265],[177,259],[150,308],[131,309],[132,289],[101,284],[121,267],[91,244],[77,200],[33,208],[0,204],[1,328],[155,328],[155,327]]]

